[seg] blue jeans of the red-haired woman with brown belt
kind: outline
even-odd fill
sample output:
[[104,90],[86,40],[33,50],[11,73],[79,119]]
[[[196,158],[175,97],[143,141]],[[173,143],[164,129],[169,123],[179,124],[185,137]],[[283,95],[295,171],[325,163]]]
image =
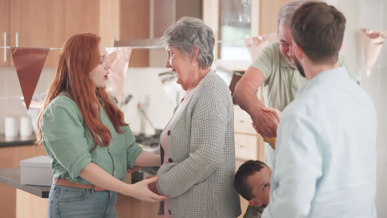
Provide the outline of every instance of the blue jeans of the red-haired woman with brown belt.
[[52,185],[48,218],[117,218],[117,193]]

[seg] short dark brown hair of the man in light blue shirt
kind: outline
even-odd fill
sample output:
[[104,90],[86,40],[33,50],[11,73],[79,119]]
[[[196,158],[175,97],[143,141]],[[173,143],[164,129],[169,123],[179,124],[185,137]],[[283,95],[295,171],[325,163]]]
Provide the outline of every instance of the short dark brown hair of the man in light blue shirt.
[[308,2],[298,8],[290,24],[293,41],[314,63],[337,62],[344,38],[344,15],[325,2]]

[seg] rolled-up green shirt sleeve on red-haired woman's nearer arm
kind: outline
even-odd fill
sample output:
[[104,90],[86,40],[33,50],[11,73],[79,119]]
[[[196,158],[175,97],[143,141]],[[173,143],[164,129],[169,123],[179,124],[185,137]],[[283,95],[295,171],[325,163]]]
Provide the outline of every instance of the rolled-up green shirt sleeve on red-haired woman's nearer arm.
[[44,112],[40,128],[46,149],[72,178],[77,178],[92,162],[80,113],[76,108],[53,104]]

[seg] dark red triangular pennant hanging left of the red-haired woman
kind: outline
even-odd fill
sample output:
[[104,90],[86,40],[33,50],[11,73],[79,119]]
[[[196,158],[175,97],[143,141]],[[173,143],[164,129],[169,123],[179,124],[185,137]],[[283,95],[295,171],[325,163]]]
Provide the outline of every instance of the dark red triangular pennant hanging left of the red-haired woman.
[[28,110],[50,48],[11,47],[10,49]]

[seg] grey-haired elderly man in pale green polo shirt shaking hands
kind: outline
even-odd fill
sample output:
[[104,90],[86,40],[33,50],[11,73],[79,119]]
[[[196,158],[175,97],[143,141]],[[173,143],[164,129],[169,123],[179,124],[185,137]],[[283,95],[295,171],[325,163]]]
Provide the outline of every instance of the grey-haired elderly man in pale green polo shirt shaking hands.
[[[269,44],[257,60],[247,69],[236,84],[234,99],[250,114],[257,132],[262,137],[276,137],[278,121],[259,101],[255,92],[264,85],[266,107],[282,111],[296,96],[298,89],[307,81],[296,69],[293,58],[292,37],[289,22],[294,12],[308,0],[295,0],[284,4],[277,16],[279,42]],[[344,66],[344,58],[339,57],[339,66]],[[265,143],[265,164],[272,168],[274,150]]]

